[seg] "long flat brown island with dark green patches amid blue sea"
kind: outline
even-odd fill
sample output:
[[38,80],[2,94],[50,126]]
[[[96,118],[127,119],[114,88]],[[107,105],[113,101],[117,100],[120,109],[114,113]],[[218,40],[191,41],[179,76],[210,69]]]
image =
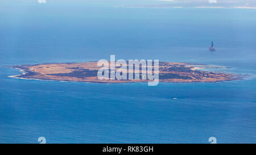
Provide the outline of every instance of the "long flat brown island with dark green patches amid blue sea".
[[[22,74],[10,76],[23,79],[52,81],[75,81],[97,83],[148,82],[149,79],[98,79],[100,67],[97,61],[83,63],[53,63],[9,66]],[[159,82],[221,82],[241,79],[236,74],[207,71],[209,68],[225,66],[189,64],[183,62],[159,62]],[[141,73],[140,73],[141,74]]]

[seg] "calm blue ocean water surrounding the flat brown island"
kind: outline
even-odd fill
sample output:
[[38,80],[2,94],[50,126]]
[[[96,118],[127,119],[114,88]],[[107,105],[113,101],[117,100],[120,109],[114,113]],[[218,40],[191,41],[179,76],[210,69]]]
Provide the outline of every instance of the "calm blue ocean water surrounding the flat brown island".
[[[1,2],[2,3],[2,2]],[[78,2],[77,2],[78,3]],[[0,143],[256,143],[256,10],[2,3]],[[209,52],[211,41],[217,48]],[[15,79],[6,65],[159,59],[229,66],[220,83]],[[174,99],[177,98],[177,99]]]

